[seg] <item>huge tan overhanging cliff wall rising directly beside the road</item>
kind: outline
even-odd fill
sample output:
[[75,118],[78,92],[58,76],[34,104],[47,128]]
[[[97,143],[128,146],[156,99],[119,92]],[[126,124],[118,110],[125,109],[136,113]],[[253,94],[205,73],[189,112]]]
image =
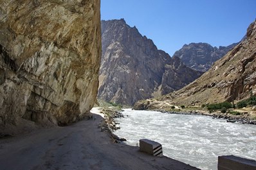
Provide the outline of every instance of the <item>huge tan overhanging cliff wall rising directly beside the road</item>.
[[0,2],[0,129],[84,117],[98,87],[100,1]]

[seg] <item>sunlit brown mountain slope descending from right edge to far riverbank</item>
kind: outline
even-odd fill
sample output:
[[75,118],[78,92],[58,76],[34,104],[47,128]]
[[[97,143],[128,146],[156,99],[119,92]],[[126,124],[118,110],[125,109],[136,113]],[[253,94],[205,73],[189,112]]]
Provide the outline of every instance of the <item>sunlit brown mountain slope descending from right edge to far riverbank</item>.
[[183,89],[151,101],[140,101],[134,108],[159,105],[202,105],[239,101],[256,96],[256,21],[248,27],[246,38],[200,78]]

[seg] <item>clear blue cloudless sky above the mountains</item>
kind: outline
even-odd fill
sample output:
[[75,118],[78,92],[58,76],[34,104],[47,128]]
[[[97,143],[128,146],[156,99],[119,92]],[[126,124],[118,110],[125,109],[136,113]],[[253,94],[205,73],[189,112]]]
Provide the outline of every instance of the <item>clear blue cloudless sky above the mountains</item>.
[[239,42],[255,21],[256,0],[101,0],[101,17],[125,19],[172,56],[190,42]]

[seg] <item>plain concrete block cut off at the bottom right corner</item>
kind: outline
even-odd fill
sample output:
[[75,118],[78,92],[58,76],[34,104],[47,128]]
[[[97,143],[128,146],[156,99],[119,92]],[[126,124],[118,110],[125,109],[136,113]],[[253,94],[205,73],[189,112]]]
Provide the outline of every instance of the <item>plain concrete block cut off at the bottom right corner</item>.
[[218,157],[218,170],[256,170],[256,161],[233,155]]

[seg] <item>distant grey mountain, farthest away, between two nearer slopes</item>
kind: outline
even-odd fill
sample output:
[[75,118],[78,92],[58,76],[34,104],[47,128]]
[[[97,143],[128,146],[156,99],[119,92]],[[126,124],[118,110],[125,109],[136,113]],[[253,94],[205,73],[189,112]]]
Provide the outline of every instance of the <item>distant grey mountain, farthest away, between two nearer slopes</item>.
[[206,72],[215,61],[222,58],[230,49],[239,43],[230,46],[212,47],[207,43],[191,43],[185,44],[181,49],[174,53],[174,56],[181,58],[181,61],[192,69]]

